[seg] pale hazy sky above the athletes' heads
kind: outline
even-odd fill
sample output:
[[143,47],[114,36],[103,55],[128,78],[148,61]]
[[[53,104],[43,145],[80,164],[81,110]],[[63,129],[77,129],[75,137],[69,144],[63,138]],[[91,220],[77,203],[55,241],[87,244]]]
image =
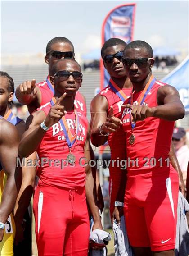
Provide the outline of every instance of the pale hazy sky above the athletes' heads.
[[76,51],[100,47],[103,19],[135,2],[134,40],[156,46],[189,46],[188,1],[1,1],[1,53],[45,53],[53,37],[69,38]]

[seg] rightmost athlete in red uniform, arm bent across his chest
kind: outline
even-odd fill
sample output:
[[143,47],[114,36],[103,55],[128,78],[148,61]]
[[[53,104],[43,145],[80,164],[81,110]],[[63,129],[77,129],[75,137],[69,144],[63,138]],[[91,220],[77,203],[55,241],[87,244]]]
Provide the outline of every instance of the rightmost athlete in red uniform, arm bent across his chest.
[[122,112],[129,241],[136,256],[173,256],[179,184],[169,151],[174,121],[184,117],[184,106],[174,87],[153,77],[153,50],[146,42],[128,44],[123,63],[134,89]]

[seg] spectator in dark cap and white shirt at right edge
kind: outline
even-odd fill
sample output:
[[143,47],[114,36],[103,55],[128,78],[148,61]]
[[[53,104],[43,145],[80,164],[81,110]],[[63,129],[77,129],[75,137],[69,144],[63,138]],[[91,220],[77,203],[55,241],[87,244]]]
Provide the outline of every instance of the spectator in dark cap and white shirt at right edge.
[[186,185],[187,165],[189,161],[189,148],[186,145],[186,132],[184,128],[174,128],[172,141],[175,146],[175,153],[178,159],[180,169],[183,173],[184,183]]

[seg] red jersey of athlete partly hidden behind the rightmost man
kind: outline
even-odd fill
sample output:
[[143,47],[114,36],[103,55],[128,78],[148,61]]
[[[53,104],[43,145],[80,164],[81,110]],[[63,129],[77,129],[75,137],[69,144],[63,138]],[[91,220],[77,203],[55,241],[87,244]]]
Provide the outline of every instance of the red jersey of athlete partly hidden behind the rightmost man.
[[[125,93],[127,97],[130,96],[132,88],[125,88],[122,89],[122,91]],[[115,117],[121,119],[121,106],[123,104],[123,101],[121,101],[120,97],[112,90],[112,88],[108,85],[105,87],[102,91],[99,92],[100,95],[106,97],[108,101],[108,112],[107,116],[110,111],[110,106],[113,106],[113,114]],[[108,136],[108,144],[111,149],[111,158],[116,159],[117,158],[117,151],[122,151],[123,147],[121,146],[123,143],[123,138],[120,137],[121,129],[118,130],[116,133],[110,133]],[[125,149],[125,147],[124,147]]]

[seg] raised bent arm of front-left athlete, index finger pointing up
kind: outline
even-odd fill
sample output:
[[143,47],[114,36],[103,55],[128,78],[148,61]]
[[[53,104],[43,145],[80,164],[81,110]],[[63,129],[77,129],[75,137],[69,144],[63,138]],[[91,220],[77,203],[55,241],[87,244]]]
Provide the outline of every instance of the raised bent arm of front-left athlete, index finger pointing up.
[[49,110],[48,115],[43,111],[36,111],[31,114],[26,121],[26,131],[23,134],[19,144],[18,153],[21,157],[28,157],[35,152],[40,145],[46,131],[40,127],[40,124],[45,120],[45,125],[51,127],[66,114],[64,106],[60,102],[65,98],[64,93]]

